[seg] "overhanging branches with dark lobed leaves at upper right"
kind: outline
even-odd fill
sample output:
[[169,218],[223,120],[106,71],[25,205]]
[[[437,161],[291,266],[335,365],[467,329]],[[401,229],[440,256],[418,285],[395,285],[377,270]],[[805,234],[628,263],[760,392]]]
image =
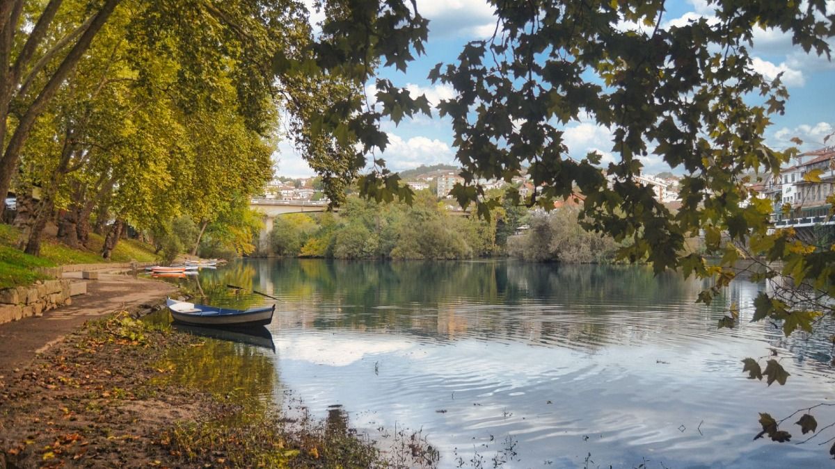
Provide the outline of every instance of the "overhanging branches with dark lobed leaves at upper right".
[[[585,197],[584,228],[623,243],[618,250],[622,260],[645,260],[656,273],[679,269],[686,276],[712,279],[714,286],[700,295],[704,302],[739,273],[734,261],[762,255],[755,280],[783,276],[800,288],[762,293],[754,319],[776,320],[787,335],[811,330],[814,318],[835,312],[829,300],[835,297],[835,250],[807,244],[792,229],[774,229],[772,201],[750,187],[779,176],[797,149],[777,151],[765,144],[769,115],[784,112],[788,93],[780,77],[769,80],[757,73],[747,46],[755,28],[774,28],[789,34],[804,52],[829,58],[827,40],[835,36],[835,17],[827,15],[822,0],[707,3],[716,8],[712,20],[665,26],[664,0],[491,1],[493,36],[467,43],[457,63],[439,63],[429,73],[455,93],[438,104],[438,113],[452,121],[456,158],[463,166],[464,183],[452,194],[462,206],[474,204],[478,214],[487,216],[501,200],[485,194],[478,179],[510,182],[527,166],[538,190],[524,200],[510,190],[514,204],[552,209],[554,201],[579,190]],[[417,15],[401,17],[421,26]],[[356,39],[357,25],[382,25],[352,19],[357,21],[326,19],[326,52],[333,42]],[[393,43],[401,58],[410,46],[422,50],[422,36],[408,39]],[[372,57],[393,55],[388,49],[373,52]],[[368,62],[355,54],[340,64],[352,61]],[[387,115],[397,123],[428,111],[423,101],[397,93],[385,80],[377,88],[382,109],[357,115],[355,122]],[[615,162],[602,170],[600,154],[569,157],[562,129],[581,119],[614,135]],[[366,143],[366,153],[368,144],[385,145],[370,131],[357,132],[357,139]],[[640,157],[649,154],[683,173],[682,206],[675,214],[653,197],[650,187],[636,182]],[[357,161],[365,164],[365,159]],[[380,169],[383,162],[375,164],[374,174],[362,179],[362,193],[377,200],[407,198]],[[807,177],[812,184],[819,182],[819,174]],[[745,200],[750,203],[741,204]],[[835,195],[827,202],[835,206]],[[707,253],[720,255],[721,265],[707,265],[703,255],[685,249],[686,238],[701,232]],[[731,311],[726,324],[735,317]],[[746,371],[762,376],[749,363]],[[769,383],[785,381],[777,361],[768,361],[762,373],[769,375]],[[762,426],[772,438],[787,439],[773,420],[765,419]]]

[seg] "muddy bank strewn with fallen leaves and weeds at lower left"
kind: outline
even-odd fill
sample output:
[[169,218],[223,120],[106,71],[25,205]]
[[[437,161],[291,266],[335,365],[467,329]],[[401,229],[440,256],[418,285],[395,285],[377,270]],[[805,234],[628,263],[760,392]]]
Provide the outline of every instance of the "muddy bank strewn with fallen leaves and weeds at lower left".
[[[156,313],[159,315],[163,311]],[[123,312],[0,376],[0,467],[431,466],[431,446],[380,451],[272,391],[269,353]],[[295,403],[295,404],[294,404]],[[397,447],[399,451],[397,451]],[[393,448],[394,451],[391,451]]]

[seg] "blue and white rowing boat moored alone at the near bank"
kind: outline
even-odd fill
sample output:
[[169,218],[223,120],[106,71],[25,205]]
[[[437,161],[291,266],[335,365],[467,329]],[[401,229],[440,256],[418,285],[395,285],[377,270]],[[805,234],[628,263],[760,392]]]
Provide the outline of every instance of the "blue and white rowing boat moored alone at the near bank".
[[211,325],[215,327],[254,327],[268,325],[276,305],[259,306],[249,310],[234,310],[217,306],[195,305],[186,301],[165,300],[176,322],[190,325]]

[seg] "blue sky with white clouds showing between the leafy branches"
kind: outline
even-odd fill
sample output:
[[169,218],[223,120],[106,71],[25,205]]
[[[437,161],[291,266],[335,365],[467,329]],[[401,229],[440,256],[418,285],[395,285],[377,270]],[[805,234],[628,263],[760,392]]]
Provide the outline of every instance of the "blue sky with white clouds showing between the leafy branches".
[[[306,0],[308,4],[311,0]],[[827,13],[835,13],[835,0],[827,0]],[[397,86],[406,87],[414,97],[426,93],[430,103],[439,99],[452,98],[453,88],[444,84],[433,84],[428,80],[429,70],[437,63],[455,63],[463,45],[469,41],[488,38],[493,33],[496,20],[492,8],[484,0],[417,0],[417,9],[429,19],[429,38],[426,54],[410,63],[406,73],[383,69],[381,76],[392,80]],[[686,24],[693,19],[710,19],[712,8],[706,0],[669,0],[662,19],[662,27]],[[311,23],[321,16],[311,15]],[[835,42],[832,43],[835,52]],[[835,110],[832,108],[832,94],[835,92],[835,62],[807,54],[801,48],[792,46],[787,33],[779,30],[757,29],[751,48],[752,66],[766,78],[783,73],[782,80],[791,95],[786,113],[772,115],[772,126],[766,131],[767,144],[774,149],[785,149],[791,139],[802,139],[801,150],[818,149],[835,144],[830,139],[823,142],[827,134],[835,131]],[[373,90],[369,93],[373,96]],[[448,119],[440,119],[437,112],[433,118],[420,114],[413,119],[403,119],[399,125],[384,120],[381,128],[388,135],[389,143],[382,158],[389,169],[401,171],[417,168],[421,164],[456,164],[453,148],[453,130]],[[604,154],[604,161],[611,158],[611,132],[592,121],[564,126],[564,142],[569,154],[581,158],[590,151]],[[315,175],[301,155],[293,149],[289,139],[283,139],[276,154],[276,175],[293,178]],[[643,160],[645,173],[657,174],[668,171],[660,157],[651,155]],[[678,171],[674,171],[678,172]]]

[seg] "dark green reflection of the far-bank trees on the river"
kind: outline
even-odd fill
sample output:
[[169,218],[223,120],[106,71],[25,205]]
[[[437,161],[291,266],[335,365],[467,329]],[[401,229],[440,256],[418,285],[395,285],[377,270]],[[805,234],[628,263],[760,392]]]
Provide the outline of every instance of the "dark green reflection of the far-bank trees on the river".
[[[694,314],[715,329],[726,305],[696,305],[701,284],[644,266],[516,261],[256,261],[298,324],[414,335],[514,337],[600,344],[653,334]],[[266,263],[266,264],[265,264]],[[269,268],[266,266],[269,265]],[[256,278],[263,285],[265,279]],[[619,339],[620,340],[620,339]]]

